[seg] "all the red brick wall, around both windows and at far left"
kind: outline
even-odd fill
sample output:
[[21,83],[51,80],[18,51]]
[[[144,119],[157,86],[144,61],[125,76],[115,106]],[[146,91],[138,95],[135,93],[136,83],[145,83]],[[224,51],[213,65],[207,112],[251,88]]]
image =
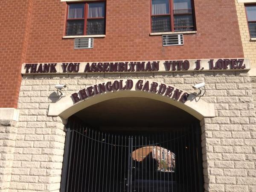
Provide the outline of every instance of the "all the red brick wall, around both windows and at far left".
[[[22,0],[19,7],[21,4],[27,9],[27,1]],[[95,38],[93,49],[73,49],[73,39],[62,39],[66,3],[60,0],[32,1],[31,26],[24,60],[26,63],[243,57],[235,0],[195,0],[198,32],[184,35],[184,46],[171,47],[162,47],[161,36],[149,36],[150,0],[107,0],[106,37]],[[9,79],[13,79],[16,85],[16,90],[8,90],[13,91],[11,95],[15,93],[12,100],[7,99],[9,97],[5,93],[0,93],[3,107],[15,106],[17,103],[20,64],[23,62],[24,52],[21,49],[25,48],[22,46],[25,32],[18,29],[24,29],[26,26],[26,9],[16,10],[9,5],[17,3],[18,0],[1,0],[2,2],[1,8],[8,7],[8,12],[12,13],[13,17],[4,17],[0,22],[14,22],[11,32],[6,31],[5,34],[18,40],[12,46],[5,45],[4,49],[8,54],[4,57],[1,55],[1,67],[2,64],[7,64],[8,71],[15,69],[15,73],[5,73],[5,77],[0,77],[6,82],[3,86],[1,83],[1,90],[6,88]],[[1,18],[8,15],[6,12],[0,14]],[[1,36],[0,38],[2,39]],[[11,39],[7,38],[6,41],[9,43]],[[10,74],[12,75],[7,77]]]

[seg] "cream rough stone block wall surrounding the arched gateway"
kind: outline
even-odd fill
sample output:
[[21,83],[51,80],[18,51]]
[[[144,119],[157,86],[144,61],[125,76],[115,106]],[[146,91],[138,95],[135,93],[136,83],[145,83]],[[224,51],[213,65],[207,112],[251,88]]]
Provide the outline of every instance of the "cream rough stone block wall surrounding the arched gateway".
[[250,77],[243,72],[80,74],[23,76],[9,192],[59,191],[64,152],[64,124],[47,116],[58,100],[55,84],[66,95],[108,79],[148,78],[194,92],[206,82],[204,100],[215,103],[214,118],[201,121],[205,191],[256,191],[256,127]]

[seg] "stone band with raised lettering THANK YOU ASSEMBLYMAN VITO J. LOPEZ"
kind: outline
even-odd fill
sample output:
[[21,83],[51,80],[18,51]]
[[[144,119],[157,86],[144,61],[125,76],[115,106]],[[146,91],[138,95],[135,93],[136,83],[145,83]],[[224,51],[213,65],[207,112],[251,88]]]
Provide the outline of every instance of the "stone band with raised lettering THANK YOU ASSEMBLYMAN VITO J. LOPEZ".
[[172,61],[124,61],[23,64],[22,74],[45,73],[142,73],[213,70],[249,70],[248,59],[197,59]]

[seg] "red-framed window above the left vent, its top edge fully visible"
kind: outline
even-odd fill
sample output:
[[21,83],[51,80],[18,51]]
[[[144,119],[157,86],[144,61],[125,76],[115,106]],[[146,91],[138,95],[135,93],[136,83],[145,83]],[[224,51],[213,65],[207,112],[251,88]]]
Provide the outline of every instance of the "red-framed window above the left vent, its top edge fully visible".
[[68,5],[66,35],[104,35],[105,3]]

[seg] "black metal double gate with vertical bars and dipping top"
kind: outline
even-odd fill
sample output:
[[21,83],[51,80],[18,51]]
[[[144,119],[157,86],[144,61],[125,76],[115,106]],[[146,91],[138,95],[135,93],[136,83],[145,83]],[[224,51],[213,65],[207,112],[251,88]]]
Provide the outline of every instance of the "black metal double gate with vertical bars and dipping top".
[[129,134],[67,127],[61,192],[203,192],[199,126]]

